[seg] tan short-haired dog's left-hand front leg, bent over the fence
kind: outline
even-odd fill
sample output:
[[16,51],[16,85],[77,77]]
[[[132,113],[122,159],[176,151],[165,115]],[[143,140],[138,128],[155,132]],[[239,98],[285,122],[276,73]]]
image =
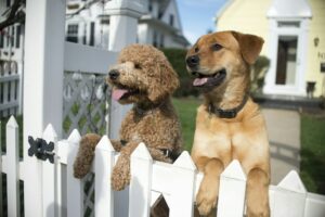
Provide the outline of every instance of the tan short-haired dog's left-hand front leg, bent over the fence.
[[204,173],[203,181],[196,195],[196,205],[200,215],[208,215],[217,205],[219,178],[224,165],[219,158],[202,157],[197,161],[198,168]]

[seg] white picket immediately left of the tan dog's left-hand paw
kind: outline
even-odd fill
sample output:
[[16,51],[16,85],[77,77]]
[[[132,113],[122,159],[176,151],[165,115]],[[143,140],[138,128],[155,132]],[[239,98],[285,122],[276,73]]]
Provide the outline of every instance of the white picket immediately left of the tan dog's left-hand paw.
[[169,216],[193,216],[193,204],[195,194],[196,166],[188,152],[184,151],[172,165],[173,183],[170,186],[172,195],[170,197]]

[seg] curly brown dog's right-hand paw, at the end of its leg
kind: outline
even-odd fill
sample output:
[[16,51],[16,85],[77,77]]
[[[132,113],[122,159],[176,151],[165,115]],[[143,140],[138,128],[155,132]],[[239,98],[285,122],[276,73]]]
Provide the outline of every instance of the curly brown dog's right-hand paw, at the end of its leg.
[[112,173],[112,188],[115,191],[123,190],[130,184],[130,170],[128,167],[114,167]]

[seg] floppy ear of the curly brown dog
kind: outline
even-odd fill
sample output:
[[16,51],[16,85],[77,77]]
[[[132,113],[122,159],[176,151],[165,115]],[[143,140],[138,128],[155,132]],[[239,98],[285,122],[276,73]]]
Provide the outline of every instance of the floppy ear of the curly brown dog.
[[150,80],[148,99],[152,102],[171,95],[180,86],[177,73],[173,71],[167,59],[158,61],[152,79]]

